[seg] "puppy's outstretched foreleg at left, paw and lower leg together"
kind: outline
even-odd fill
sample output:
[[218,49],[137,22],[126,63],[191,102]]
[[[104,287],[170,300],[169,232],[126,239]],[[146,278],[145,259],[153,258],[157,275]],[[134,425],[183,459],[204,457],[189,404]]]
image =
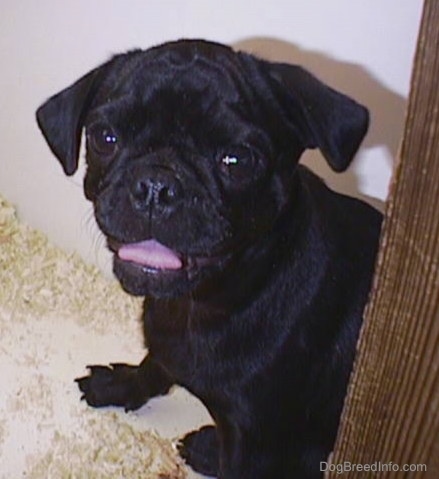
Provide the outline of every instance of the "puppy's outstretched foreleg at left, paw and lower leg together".
[[139,366],[111,364],[88,366],[90,374],[75,379],[90,406],[122,406],[133,411],[148,399],[166,394],[173,381],[150,356]]

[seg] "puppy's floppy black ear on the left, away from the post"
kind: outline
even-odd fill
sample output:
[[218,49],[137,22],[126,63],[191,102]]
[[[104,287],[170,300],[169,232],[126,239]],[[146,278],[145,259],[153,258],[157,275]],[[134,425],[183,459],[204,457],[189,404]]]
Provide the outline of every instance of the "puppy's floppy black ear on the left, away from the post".
[[49,98],[37,110],[37,122],[66,175],[78,168],[84,118],[94,97],[100,68]]

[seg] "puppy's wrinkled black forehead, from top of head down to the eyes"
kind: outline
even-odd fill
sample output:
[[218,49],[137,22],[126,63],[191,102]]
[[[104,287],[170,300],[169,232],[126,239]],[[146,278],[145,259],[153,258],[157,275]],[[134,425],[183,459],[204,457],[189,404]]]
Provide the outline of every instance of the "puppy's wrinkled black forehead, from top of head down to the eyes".
[[136,141],[230,141],[253,123],[251,80],[239,55],[222,47],[160,48],[115,58],[87,122],[109,121]]

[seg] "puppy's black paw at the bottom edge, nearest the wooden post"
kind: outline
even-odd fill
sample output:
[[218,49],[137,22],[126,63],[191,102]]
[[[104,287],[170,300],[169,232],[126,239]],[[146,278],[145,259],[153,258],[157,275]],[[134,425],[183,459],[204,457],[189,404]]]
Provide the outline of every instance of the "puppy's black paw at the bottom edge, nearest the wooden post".
[[194,471],[206,476],[218,475],[219,444],[214,426],[204,426],[184,436],[178,451]]

